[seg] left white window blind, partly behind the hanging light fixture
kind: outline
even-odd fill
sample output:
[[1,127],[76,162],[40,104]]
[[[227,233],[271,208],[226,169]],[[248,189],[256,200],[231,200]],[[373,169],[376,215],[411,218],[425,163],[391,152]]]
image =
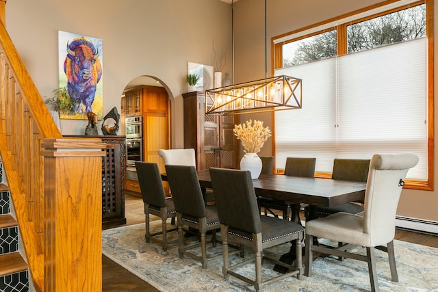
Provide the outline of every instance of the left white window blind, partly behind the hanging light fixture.
[[302,79],[302,109],[275,113],[276,168],[286,157],[317,157],[315,169],[331,172],[336,157],[336,58],[276,70]]

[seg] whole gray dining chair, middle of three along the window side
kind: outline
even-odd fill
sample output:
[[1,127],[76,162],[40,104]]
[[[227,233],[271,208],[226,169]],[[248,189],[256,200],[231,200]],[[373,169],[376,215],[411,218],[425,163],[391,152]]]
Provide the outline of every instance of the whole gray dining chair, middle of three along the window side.
[[[287,157],[285,165],[285,175],[287,176],[301,176],[301,177],[314,177],[315,176],[315,163],[314,157]],[[291,213],[291,205],[296,204],[297,210],[300,208],[299,203],[285,202],[279,200],[272,200],[270,198],[259,197],[260,207],[265,208],[265,215],[267,211],[270,211],[274,216],[276,214],[272,211],[279,210],[283,212],[283,219],[289,220]]]

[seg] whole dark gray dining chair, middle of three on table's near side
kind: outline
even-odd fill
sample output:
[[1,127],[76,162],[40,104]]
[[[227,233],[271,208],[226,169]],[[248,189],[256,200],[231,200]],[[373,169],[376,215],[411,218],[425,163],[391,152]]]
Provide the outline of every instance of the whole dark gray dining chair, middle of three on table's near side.
[[[177,226],[179,238],[179,256],[184,255],[201,261],[203,269],[207,267],[207,260],[218,258],[219,256],[207,256],[207,231],[211,232],[211,242],[216,246],[216,230],[220,228],[218,212],[216,206],[205,205],[201,186],[199,185],[196,168],[190,165],[166,165],[166,173],[172,198],[177,211]],[[190,228],[190,230],[188,228]],[[201,237],[201,243],[194,245],[184,245],[183,231],[192,233],[197,230]],[[201,256],[190,250],[201,245]]]

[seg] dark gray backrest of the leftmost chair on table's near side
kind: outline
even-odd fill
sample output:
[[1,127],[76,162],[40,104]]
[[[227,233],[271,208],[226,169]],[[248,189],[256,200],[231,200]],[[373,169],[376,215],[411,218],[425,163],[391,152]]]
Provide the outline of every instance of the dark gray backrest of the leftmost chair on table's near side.
[[157,163],[136,161],[136,169],[143,202],[159,208],[166,207],[166,193]]

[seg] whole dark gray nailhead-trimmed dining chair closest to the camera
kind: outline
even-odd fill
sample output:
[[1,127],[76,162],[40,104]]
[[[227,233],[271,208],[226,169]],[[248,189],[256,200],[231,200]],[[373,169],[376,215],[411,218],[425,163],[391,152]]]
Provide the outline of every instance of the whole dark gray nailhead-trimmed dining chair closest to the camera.
[[[276,217],[260,215],[253,181],[247,170],[210,168],[209,172],[220,220],[224,278],[227,279],[231,275],[244,280],[253,284],[256,291],[260,291],[263,285],[289,276],[296,275],[300,278],[302,273],[301,241],[304,232],[302,226]],[[228,250],[230,241],[250,246],[254,250],[255,257],[230,265]],[[266,248],[290,241],[296,242],[296,266],[269,258],[263,253]],[[288,272],[263,280],[261,278],[262,260],[286,267]],[[255,280],[239,274],[239,271],[235,269],[253,262],[255,262]]]

